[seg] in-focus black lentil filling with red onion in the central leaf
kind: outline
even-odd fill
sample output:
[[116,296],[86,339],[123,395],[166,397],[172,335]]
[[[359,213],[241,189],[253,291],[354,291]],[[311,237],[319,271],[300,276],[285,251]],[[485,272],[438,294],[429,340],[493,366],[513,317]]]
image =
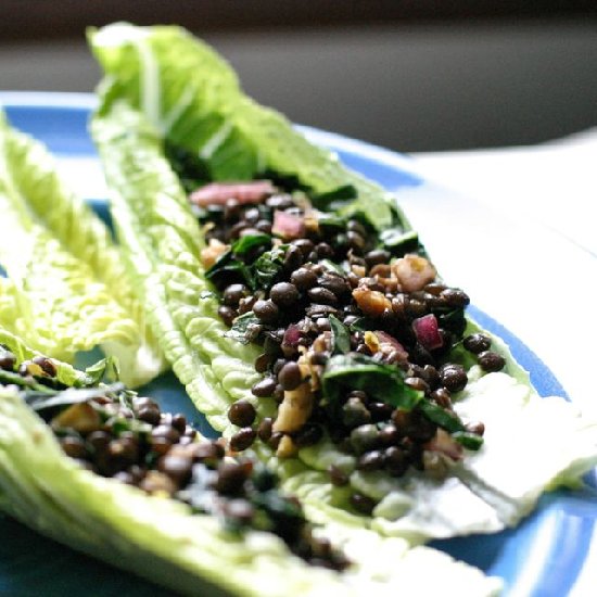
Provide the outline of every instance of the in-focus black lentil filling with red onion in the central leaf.
[[[441,478],[446,460],[481,446],[483,423],[462,421],[452,397],[467,385],[463,364],[490,372],[505,359],[490,336],[463,336],[469,297],[437,277],[415,236],[384,242],[364,214],[327,214],[270,181],[209,183],[189,200],[227,335],[262,347],[252,393],[277,404],[262,420],[244,398],[230,406],[233,449],[257,440],[288,457],[329,436],[358,470]],[[348,482],[334,465],[329,473]],[[352,504],[374,506],[358,493]]]

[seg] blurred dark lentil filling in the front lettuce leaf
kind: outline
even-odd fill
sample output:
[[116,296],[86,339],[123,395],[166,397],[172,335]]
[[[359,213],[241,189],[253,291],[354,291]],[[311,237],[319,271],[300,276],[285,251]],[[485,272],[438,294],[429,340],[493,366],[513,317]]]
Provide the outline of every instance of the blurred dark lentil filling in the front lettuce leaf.
[[328,539],[314,535],[298,500],[279,491],[275,473],[227,453],[221,441],[200,437],[183,415],[163,412],[157,402],[120,383],[68,388],[52,359],[36,356],[17,365],[0,344],[0,386],[10,385],[21,389],[63,453],[82,468],[188,504],[230,532],[272,533],[307,563],[338,571],[348,566]]

